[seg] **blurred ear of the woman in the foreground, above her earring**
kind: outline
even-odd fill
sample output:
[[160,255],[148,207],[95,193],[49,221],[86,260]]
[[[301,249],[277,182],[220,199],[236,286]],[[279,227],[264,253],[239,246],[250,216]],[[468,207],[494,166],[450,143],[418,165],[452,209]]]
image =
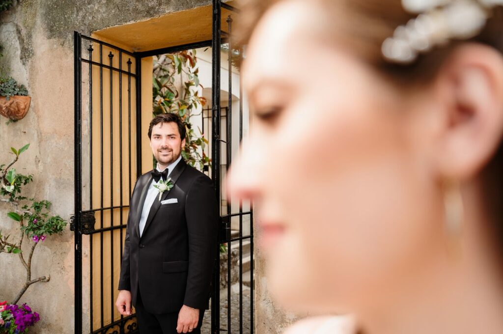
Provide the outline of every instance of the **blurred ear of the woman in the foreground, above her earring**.
[[435,160],[442,178],[474,177],[503,134],[503,57],[469,43],[452,51],[435,79],[440,103]]

